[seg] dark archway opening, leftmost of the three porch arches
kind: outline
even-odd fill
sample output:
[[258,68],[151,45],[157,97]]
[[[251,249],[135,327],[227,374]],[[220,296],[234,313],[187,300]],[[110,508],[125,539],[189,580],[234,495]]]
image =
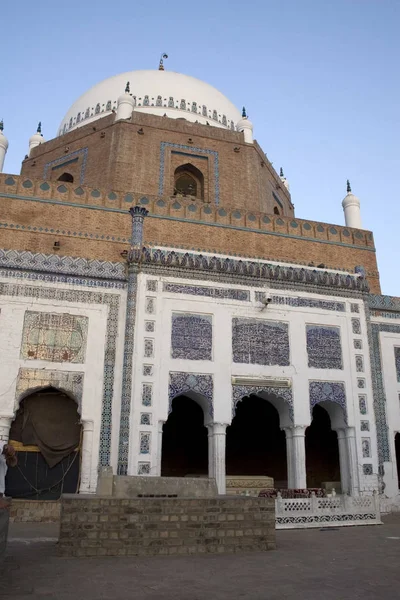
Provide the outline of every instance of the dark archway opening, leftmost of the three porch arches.
[[208,438],[203,409],[188,396],[172,401],[163,427],[161,475],[208,477]]

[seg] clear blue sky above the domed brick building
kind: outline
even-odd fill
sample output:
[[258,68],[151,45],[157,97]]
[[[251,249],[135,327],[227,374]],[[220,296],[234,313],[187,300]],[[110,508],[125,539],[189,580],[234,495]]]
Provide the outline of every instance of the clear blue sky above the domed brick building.
[[51,139],[90,86],[167,52],[167,69],[246,106],[297,217],[343,224],[351,180],[382,290],[400,296],[399,0],[6,0],[2,22],[6,172],[39,120]]

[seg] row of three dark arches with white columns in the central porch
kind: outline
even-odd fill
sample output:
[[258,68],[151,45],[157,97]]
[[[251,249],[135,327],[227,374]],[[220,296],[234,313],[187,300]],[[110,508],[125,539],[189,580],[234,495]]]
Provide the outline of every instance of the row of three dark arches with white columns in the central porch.
[[251,395],[237,404],[231,424],[205,424],[199,404],[179,396],[163,427],[161,475],[215,477],[220,493],[225,476],[239,475],[273,477],[276,488],[332,482],[338,492],[341,487],[357,493],[355,432],[333,430],[334,418],[329,403],[322,403],[314,407],[310,426],[282,428],[277,408]]

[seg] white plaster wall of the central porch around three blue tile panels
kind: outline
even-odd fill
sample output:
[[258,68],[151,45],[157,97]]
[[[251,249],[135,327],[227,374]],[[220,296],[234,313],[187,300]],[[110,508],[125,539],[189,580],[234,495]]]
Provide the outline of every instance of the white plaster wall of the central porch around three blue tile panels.
[[[157,280],[158,289],[150,292],[146,289],[146,280]],[[186,294],[175,294],[163,292],[163,282],[170,281],[185,285],[199,285],[202,287],[238,288],[250,290],[249,302],[235,301],[230,299],[214,299],[202,296]],[[168,277],[151,277],[140,275],[138,281],[137,323],[135,335],[135,365],[134,365],[134,389],[133,389],[133,411],[131,414],[131,444],[130,444],[130,474],[137,473],[138,461],[149,461],[151,463],[151,475],[158,474],[157,460],[160,456],[158,443],[158,422],[166,421],[168,417],[168,381],[170,371],[184,371],[187,373],[212,374],[214,377],[214,422],[230,423],[232,384],[231,377],[236,376],[274,376],[288,377],[292,380],[294,396],[294,424],[309,425],[311,420],[309,405],[309,380],[338,381],[343,382],[346,388],[348,425],[355,428],[357,439],[357,453],[359,457],[359,476],[362,475],[362,451],[361,438],[365,434],[360,431],[360,419],[366,419],[359,413],[359,393],[368,394],[369,415],[371,427],[374,427],[372,415],[372,387],[368,353],[367,328],[362,301],[357,300],[360,305],[360,313],[350,312],[350,302],[356,302],[342,297],[322,296],[308,292],[293,292],[288,290],[270,288],[274,295],[316,298],[327,301],[338,301],[346,304],[346,312],[336,312],[324,309],[308,307],[291,307],[287,305],[270,304],[262,308],[262,304],[255,300],[256,291],[267,291],[265,287],[252,288],[246,285],[227,285],[204,280],[183,280]],[[146,313],[146,298],[155,300],[155,311],[153,314]],[[203,313],[212,316],[213,320],[213,360],[180,360],[172,359],[170,352],[171,341],[171,319],[173,312]],[[250,364],[237,364],[232,362],[232,318],[251,317],[257,319],[276,320],[289,324],[290,336],[290,366],[263,366]],[[352,332],[351,318],[359,318],[361,321],[361,334],[354,335]],[[145,321],[155,322],[155,332],[145,332]],[[328,325],[341,329],[343,370],[325,370],[308,368],[308,357],[306,352],[306,325]],[[154,339],[154,358],[144,358],[145,338]],[[353,338],[361,339],[363,350],[355,350]],[[364,356],[364,373],[356,373],[355,355]],[[153,364],[154,375],[143,377],[142,365]],[[362,390],[357,387],[358,377],[363,377],[366,387]],[[141,404],[141,387],[144,381],[153,384],[153,405],[145,408]],[[148,412],[152,415],[150,426],[140,425],[140,413]],[[151,451],[149,455],[141,455],[139,452],[140,432],[148,431],[152,435]],[[376,458],[376,436],[374,430],[369,432],[372,440],[373,458],[364,460],[372,462],[377,468]],[[362,489],[364,489],[362,483]],[[376,488],[376,485],[374,486]]]

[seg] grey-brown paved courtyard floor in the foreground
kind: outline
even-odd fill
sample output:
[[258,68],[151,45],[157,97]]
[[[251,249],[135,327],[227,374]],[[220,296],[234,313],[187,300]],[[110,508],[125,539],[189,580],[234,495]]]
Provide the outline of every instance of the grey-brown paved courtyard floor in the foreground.
[[276,551],[62,559],[54,525],[14,523],[0,566],[10,600],[381,600],[399,597],[400,515],[384,525],[278,531]]

